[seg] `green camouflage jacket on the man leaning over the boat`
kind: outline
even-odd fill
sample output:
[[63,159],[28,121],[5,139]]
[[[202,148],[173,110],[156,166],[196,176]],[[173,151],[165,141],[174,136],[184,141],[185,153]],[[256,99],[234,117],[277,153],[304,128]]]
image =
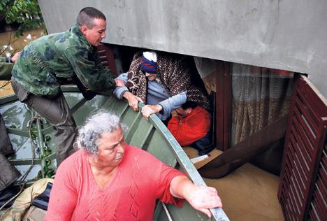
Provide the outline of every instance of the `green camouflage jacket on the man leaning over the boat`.
[[89,45],[76,24],[68,31],[26,45],[12,75],[32,94],[51,97],[61,92],[58,78],[74,75],[93,91],[106,92],[115,87],[112,72],[101,64],[96,48]]

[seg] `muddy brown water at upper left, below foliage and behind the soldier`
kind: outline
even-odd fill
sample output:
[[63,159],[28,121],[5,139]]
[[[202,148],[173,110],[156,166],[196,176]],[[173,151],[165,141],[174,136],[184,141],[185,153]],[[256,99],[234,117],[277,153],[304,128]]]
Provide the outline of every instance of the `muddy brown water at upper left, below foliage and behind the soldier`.
[[[22,50],[27,43],[34,41],[36,38],[43,35],[45,35],[43,29],[26,31],[24,35],[19,38],[15,38],[14,31],[11,34],[11,38],[10,31],[0,33],[0,52],[6,49],[6,51],[1,54],[1,57],[6,57],[7,55],[12,56],[14,52]],[[6,85],[6,83],[6,81],[0,80],[0,87]],[[11,88],[10,83],[0,89],[0,97],[5,97],[10,94],[13,94],[13,89]]]

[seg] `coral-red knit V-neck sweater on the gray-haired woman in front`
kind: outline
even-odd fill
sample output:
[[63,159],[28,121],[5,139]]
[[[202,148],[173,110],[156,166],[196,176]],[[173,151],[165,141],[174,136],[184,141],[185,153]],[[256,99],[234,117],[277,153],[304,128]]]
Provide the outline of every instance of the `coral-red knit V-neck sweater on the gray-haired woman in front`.
[[45,220],[153,220],[156,200],[182,206],[170,181],[184,175],[149,152],[126,145],[114,178],[100,190],[85,151],[75,152],[57,170]]

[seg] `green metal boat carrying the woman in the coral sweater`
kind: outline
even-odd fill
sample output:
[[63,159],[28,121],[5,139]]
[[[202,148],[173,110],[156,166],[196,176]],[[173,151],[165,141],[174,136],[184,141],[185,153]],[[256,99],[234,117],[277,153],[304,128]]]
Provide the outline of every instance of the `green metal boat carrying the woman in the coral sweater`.
[[[156,115],[151,115],[147,121],[140,112],[129,108],[126,101],[118,100],[112,94],[99,94],[87,101],[73,85],[63,86],[62,90],[78,126],[99,109],[111,110],[122,117],[122,123],[129,127],[124,134],[126,142],[151,152],[169,166],[180,169],[194,183],[205,185],[189,157]],[[144,104],[139,106],[141,108]],[[31,184],[38,177],[51,176],[56,168],[51,125],[18,101],[15,95],[0,99],[0,113],[15,149],[15,155],[9,161],[26,177],[24,181]],[[228,220],[221,208],[212,209],[211,212],[212,220]],[[208,220],[208,217],[195,211],[187,202],[182,208],[158,202],[154,220]]]

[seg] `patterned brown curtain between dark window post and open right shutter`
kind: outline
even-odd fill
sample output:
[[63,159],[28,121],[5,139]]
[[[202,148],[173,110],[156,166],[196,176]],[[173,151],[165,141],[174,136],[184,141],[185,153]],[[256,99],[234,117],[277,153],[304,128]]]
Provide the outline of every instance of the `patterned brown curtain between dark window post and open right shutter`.
[[232,76],[231,144],[235,145],[287,115],[293,73],[233,63]]

